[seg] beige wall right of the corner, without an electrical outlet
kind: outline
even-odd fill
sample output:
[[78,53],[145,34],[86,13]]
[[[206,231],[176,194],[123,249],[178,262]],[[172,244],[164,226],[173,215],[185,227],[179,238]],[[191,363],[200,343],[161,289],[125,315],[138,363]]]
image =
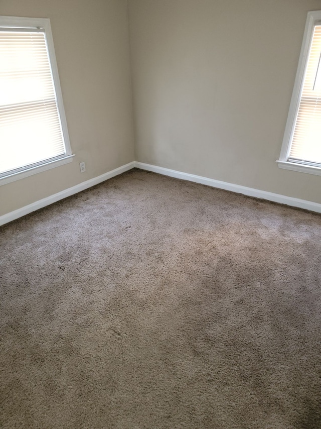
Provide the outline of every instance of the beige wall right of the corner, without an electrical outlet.
[[321,203],[278,159],[320,0],[129,0],[137,161]]

